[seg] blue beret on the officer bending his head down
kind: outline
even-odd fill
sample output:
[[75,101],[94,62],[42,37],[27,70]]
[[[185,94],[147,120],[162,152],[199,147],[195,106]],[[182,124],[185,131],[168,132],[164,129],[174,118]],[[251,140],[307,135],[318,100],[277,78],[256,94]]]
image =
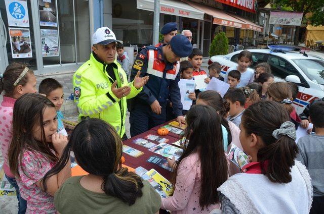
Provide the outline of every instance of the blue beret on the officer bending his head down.
[[178,57],[188,57],[192,52],[192,44],[188,40],[188,38],[184,35],[175,35],[171,41],[170,45],[172,51]]

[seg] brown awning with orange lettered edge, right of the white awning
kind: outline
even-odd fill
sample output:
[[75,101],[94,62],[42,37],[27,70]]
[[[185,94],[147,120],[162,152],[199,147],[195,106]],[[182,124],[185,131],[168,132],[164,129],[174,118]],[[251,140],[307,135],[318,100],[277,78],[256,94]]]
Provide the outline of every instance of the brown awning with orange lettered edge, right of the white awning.
[[200,4],[196,4],[193,2],[187,2],[189,5],[191,5],[192,7],[203,11],[205,13],[207,13],[208,15],[213,16],[214,20],[213,23],[217,24],[217,25],[224,25],[224,26],[229,26],[229,27],[235,27],[235,28],[241,28],[241,29],[246,29],[246,23],[242,22],[239,19],[236,19],[226,13],[224,13],[221,10],[215,9],[215,8],[211,8],[205,5],[200,5]]

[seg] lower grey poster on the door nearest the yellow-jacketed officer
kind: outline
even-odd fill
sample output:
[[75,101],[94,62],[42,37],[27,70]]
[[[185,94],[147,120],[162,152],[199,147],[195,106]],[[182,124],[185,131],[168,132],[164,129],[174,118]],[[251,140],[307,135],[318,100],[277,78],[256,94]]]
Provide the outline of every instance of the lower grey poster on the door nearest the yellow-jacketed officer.
[[41,29],[43,57],[58,57],[59,46],[57,30]]

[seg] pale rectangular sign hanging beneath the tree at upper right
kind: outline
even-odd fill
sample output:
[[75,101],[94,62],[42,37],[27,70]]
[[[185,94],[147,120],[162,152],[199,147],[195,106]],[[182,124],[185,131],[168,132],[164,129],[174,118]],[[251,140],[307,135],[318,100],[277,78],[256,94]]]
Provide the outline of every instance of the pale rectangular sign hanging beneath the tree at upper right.
[[300,26],[303,19],[303,13],[295,12],[270,12],[270,25],[292,25]]

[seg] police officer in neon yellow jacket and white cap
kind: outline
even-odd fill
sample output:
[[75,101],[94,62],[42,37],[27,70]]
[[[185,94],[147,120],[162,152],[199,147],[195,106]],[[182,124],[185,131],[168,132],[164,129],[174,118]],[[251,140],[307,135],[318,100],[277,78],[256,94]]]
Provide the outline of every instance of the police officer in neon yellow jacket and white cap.
[[115,34],[108,27],[99,28],[92,36],[92,43],[90,60],[73,75],[79,119],[102,119],[125,139],[126,99],[135,97],[148,77],[139,77],[138,72],[133,82],[127,82],[125,71],[115,60]]

